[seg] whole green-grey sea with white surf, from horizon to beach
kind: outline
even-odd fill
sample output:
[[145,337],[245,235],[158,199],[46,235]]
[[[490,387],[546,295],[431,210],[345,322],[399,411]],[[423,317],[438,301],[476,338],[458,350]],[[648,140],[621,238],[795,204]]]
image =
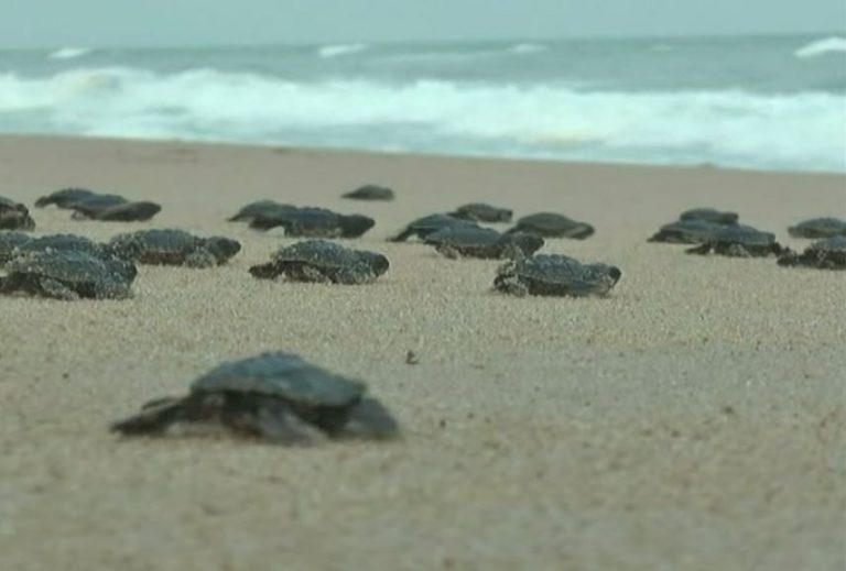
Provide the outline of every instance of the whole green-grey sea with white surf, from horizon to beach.
[[0,131],[846,172],[846,35],[0,51]]

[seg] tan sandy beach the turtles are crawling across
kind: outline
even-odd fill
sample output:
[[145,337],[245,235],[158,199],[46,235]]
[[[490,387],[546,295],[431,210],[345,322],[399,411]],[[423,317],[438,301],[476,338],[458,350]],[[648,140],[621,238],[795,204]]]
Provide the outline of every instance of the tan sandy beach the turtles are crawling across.
[[[364,183],[398,200],[338,198]],[[245,249],[208,271],[142,266],[127,301],[0,299],[3,570],[846,568],[846,273],[646,242],[696,206],[787,240],[846,213],[843,175],[0,138],[0,195],[72,185],[164,210],[148,224],[34,210],[39,232],[177,226]],[[224,220],[259,198],[373,216],[351,244],[391,271],[362,287],[253,279],[288,241]],[[384,241],[470,200],[593,222],[546,251],[622,279],[607,299],[519,299],[489,292],[496,262]],[[404,438],[106,430],[268,349],[367,380]]]

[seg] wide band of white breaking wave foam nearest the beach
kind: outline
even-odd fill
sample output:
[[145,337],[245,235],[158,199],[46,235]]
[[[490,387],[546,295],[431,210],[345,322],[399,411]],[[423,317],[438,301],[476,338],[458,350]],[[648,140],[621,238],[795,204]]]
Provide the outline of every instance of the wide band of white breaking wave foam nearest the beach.
[[0,74],[0,130],[31,124],[130,138],[836,171],[846,171],[844,108],[846,96],[822,92],[296,83],[215,69],[155,74],[121,67],[44,79]]

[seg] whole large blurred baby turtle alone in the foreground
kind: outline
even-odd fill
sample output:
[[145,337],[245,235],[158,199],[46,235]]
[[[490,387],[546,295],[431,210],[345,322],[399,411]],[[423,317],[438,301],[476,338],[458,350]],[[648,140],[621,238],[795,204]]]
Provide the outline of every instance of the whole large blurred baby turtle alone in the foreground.
[[151,400],[110,428],[126,436],[158,436],[181,424],[223,425],[284,444],[399,432],[397,420],[367,396],[364,383],[283,352],[223,363],[194,381],[186,396]]

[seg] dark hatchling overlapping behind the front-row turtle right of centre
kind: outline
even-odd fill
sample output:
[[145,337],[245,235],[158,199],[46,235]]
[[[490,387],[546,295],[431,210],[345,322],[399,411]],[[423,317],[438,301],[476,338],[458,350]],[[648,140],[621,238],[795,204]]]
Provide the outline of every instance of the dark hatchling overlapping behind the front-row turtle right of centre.
[[538,234],[500,234],[489,228],[471,226],[444,228],[429,234],[423,241],[451,259],[513,260],[532,255],[543,245],[543,238]]

